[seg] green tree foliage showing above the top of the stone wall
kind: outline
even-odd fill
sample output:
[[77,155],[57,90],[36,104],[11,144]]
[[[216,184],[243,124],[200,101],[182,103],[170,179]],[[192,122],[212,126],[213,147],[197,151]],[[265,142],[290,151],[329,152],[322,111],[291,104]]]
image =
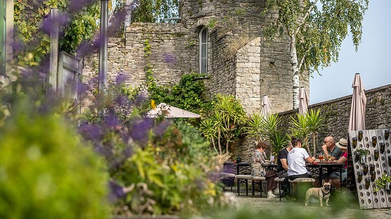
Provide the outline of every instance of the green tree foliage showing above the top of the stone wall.
[[134,22],[164,22],[178,17],[178,0],[140,0],[134,12]]

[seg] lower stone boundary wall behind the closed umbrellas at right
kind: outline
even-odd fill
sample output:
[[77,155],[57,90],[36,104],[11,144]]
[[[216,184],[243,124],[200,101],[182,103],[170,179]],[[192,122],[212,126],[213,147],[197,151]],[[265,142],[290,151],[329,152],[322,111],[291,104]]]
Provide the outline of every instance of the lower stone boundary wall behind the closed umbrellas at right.
[[[352,88],[353,89],[353,88]],[[366,129],[391,128],[391,84],[367,90]],[[309,105],[309,109],[321,109],[321,115],[326,125],[319,132],[318,145],[323,144],[326,136],[334,136],[336,141],[347,138],[352,95]],[[295,116],[297,110],[280,113],[282,129],[289,128],[290,116]]]

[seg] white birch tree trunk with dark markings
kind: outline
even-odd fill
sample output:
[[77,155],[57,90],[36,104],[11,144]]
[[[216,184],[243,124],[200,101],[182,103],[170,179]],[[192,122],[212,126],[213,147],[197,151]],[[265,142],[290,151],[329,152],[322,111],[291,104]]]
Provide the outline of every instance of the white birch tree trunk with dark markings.
[[291,58],[292,85],[293,85],[292,86],[293,108],[298,108],[299,107],[299,100],[297,99],[297,96],[299,94],[300,80],[299,80],[299,64],[298,64],[298,60],[297,60],[295,34],[292,34],[290,36],[290,39],[291,39],[290,58]]

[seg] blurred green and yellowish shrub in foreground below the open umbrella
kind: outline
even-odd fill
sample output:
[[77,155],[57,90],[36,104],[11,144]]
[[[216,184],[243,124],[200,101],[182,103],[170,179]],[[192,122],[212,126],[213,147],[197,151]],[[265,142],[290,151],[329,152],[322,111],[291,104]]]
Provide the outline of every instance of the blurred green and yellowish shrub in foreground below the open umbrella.
[[219,162],[210,158],[197,130],[179,124],[149,142],[112,173],[121,184],[142,188],[131,190],[119,205],[135,214],[200,214],[220,204],[221,189],[208,177]]

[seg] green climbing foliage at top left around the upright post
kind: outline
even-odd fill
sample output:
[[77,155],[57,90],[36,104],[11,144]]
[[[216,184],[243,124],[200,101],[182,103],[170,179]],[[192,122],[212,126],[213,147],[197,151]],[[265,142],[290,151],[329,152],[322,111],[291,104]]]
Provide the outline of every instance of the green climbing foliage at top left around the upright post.
[[[14,0],[15,41],[27,48],[18,54],[21,65],[38,65],[43,56],[50,52],[50,37],[41,31],[43,17],[50,13],[50,8],[59,11],[67,9],[69,0]],[[74,53],[77,46],[85,41],[91,41],[97,29],[96,20],[99,17],[98,1],[76,12],[69,18],[64,27],[65,36],[60,40],[60,49]]]

